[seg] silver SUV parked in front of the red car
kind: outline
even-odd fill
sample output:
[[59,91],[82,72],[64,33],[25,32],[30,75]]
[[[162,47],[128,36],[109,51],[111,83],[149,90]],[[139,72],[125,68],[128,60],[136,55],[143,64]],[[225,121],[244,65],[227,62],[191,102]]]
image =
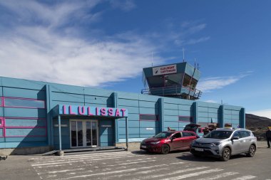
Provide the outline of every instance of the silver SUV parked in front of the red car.
[[190,152],[195,157],[219,157],[226,162],[232,155],[247,154],[253,157],[257,139],[248,129],[215,129],[191,143]]

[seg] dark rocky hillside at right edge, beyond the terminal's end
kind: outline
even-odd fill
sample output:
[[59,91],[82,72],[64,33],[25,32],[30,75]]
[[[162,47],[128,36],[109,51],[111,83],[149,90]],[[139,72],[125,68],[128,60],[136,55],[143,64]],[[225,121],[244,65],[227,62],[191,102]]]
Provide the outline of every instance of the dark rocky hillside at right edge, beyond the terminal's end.
[[251,114],[245,114],[246,128],[253,131],[258,140],[265,140],[267,127],[271,127],[271,119]]

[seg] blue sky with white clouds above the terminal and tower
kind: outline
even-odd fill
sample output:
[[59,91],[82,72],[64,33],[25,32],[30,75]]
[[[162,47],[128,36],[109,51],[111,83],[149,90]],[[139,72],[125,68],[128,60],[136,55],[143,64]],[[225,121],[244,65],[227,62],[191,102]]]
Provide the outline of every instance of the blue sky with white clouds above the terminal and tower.
[[200,100],[271,118],[271,1],[0,1],[0,76],[140,92],[199,63]]

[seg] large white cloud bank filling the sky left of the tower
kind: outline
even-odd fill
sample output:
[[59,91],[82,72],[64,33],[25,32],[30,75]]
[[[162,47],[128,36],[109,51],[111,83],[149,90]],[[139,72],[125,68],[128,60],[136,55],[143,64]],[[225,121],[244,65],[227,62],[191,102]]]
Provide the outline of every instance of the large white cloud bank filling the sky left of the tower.
[[[85,86],[105,85],[141,75],[142,68],[150,66],[151,52],[155,51],[155,46],[145,38],[131,33],[129,38],[122,36],[126,41],[119,41],[118,35],[103,41],[91,36],[88,37],[91,41],[87,41],[69,33],[78,30],[73,27],[59,32],[57,27],[86,8],[86,2],[68,1],[51,9],[35,1],[27,4],[1,1],[23,23],[9,32],[6,29],[5,36],[0,38],[0,75]],[[89,10],[96,4],[96,1],[88,4]],[[26,23],[30,16],[43,23]],[[76,16],[83,18],[92,14],[81,12]],[[159,57],[154,58],[156,63],[162,62]]]

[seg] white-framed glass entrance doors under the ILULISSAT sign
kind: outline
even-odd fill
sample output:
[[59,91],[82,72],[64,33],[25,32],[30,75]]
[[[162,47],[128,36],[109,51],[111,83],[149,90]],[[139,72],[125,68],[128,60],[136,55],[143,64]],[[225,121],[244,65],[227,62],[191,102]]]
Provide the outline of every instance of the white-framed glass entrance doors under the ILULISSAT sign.
[[98,121],[71,120],[70,121],[71,147],[97,147]]

